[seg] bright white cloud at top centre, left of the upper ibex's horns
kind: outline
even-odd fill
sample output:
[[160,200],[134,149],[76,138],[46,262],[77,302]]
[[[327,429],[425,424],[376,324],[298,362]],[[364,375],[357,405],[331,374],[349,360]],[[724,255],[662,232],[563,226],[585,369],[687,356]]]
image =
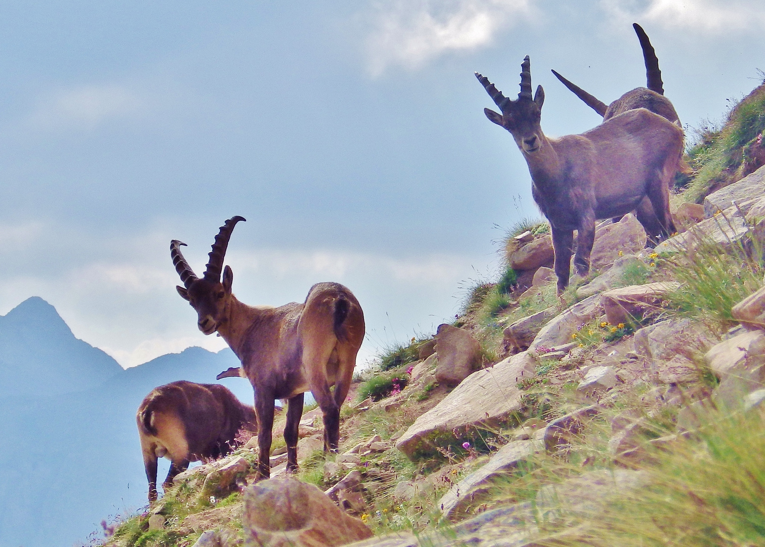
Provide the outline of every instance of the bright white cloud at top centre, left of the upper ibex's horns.
[[369,69],[422,66],[449,51],[474,50],[527,17],[532,0],[388,0],[377,7],[367,43]]

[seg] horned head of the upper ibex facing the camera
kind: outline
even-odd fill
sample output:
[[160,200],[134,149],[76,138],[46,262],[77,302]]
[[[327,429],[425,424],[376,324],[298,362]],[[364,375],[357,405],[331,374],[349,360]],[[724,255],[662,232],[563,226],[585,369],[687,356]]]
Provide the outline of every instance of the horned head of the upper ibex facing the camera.
[[537,86],[534,97],[531,96],[531,62],[529,56],[521,64],[521,91],[518,99],[512,101],[494,87],[487,77],[476,73],[478,81],[486,88],[502,114],[491,109],[483,109],[486,117],[496,125],[502,125],[516,140],[518,148],[526,154],[533,154],[542,145],[542,103],[545,102],[545,90]]

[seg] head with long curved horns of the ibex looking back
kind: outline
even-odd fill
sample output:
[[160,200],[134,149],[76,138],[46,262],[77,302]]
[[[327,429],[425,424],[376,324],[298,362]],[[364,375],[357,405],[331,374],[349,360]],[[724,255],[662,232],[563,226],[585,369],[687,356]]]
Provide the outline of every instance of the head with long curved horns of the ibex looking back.
[[177,239],[170,242],[170,256],[181,282],[185,287],[176,287],[178,294],[191,304],[197,311],[199,320],[197,325],[204,334],[213,334],[221,324],[226,321],[226,311],[231,300],[231,283],[233,272],[226,266],[223,269],[223,281],[220,279],[220,271],[223,268],[223,257],[226,256],[226,247],[229,245],[231,232],[239,220],[243,217],[232,217],[220,226],[220,232],[215,236],[213,250],[210,251],[210,262],[207,262],[204,275],[198,278],[194,270],[188,265],[181,254],[181,243]]

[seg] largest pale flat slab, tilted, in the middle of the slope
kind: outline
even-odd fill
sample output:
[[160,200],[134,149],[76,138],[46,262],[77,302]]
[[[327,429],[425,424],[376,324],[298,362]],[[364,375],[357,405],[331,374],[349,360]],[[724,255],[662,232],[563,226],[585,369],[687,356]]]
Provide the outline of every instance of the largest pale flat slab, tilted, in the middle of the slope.
[[535,374],[536,361],[528,352],[518,353],[467,376],[438,405],[421,415],[399,438],[396,448],[410,459],[431,454],[431,440],[438,435],[453,435],[456,428],[491,427],[521,404],[522,392],[516,386]]

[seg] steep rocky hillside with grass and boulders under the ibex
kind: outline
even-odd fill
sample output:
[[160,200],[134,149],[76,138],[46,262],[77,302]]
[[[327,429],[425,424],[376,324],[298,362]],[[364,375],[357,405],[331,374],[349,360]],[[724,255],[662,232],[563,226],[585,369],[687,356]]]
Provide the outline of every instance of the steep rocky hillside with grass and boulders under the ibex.
[[765,544],[762,129],[733,149],[750,174],[673,198],[656,249],[632,215],[601,223],[560,298],[545,225],[510,233],[500,282],[356,378],[340,454],[307,409],[285,477],[282,417],[271,480],[250,441],[93,543]]

